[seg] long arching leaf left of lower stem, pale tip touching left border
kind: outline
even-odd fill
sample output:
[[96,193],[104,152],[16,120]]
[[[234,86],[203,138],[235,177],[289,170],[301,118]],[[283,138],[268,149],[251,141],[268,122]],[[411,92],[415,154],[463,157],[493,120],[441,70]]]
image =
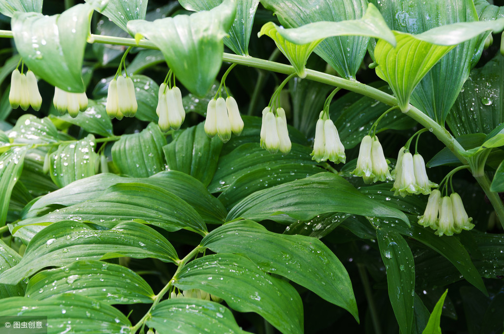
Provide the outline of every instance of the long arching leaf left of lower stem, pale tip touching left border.
[[0,282],[17,284],[48,266],[121,256],[178,261],[175,249],[161,234],[138,222],[121,222],[113,229],[100,231],[78,221],[59,221],[30,241],[21,261],[0,274]]

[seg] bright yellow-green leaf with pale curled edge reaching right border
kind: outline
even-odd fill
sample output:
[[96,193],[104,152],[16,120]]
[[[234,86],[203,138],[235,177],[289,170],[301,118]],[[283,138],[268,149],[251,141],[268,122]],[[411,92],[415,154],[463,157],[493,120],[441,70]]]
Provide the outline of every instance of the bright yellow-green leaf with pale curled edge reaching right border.
[[376,74],[387,81],[403,112],[409,110],[411,93],[425,74],[455,45],[488,31],[504,29],[504,19],[454,23],[418,35],[394,31],[394,48],[379,40],[374,48]]

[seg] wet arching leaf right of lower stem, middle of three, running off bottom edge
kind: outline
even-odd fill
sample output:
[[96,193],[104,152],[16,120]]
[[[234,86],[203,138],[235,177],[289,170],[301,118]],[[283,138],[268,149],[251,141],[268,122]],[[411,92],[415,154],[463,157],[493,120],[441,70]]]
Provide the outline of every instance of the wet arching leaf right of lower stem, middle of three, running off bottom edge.
[[296,290],[245,257],[214,254],[198,258],[174,281],[181,290],[202,289],[222,298],[238,312],[256,312],[282,333],[303,332],[303,308]]

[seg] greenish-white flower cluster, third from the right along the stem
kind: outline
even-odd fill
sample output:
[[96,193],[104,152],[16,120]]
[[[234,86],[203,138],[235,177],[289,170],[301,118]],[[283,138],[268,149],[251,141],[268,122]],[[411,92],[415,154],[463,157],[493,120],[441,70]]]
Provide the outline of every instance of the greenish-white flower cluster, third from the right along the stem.
[[378,137],[364,136],[360,143],[357,166],[352,172],[354,176],[361,176],[364,183],[393,180],[389,172],[389,164],[383,153],[382,144]]

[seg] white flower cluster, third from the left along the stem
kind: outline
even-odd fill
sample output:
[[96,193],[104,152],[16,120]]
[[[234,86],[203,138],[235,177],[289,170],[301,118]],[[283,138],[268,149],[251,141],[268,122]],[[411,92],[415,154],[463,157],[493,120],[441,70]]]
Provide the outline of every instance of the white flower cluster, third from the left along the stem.
[[122,120],[125,117],[133,117],[137,113],[138,104],[135,96],[135,86],[130,77],[122,75],[114,78],[108,85],[107,115],[110,118]]

